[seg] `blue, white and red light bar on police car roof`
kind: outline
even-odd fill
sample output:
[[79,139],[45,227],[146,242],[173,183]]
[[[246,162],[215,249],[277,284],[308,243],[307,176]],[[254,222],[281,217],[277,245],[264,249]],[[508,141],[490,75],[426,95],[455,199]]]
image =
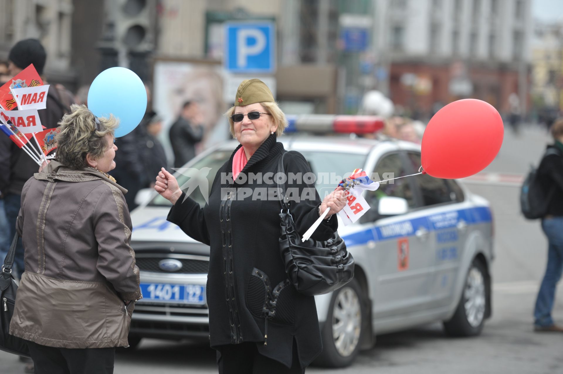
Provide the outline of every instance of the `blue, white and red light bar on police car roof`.
[[289,126],[285,133],[340,133],[368,134],[383,129],[383,119],[365,115],[305,114],[288,115]]

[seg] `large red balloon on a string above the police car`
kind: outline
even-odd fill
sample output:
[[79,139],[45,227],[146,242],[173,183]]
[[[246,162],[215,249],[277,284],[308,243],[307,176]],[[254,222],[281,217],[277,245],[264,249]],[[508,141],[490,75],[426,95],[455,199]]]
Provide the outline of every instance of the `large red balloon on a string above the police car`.
[[485,169],[501,149],[501,115],[481,100],[449,103],[428,122],[422,137],[422,167],[436,178],[465,178]]

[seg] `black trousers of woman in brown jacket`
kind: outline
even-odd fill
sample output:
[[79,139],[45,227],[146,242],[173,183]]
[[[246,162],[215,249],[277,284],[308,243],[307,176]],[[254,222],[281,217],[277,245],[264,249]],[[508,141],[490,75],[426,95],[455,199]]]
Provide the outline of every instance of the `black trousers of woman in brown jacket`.
[[35,374],[113,374],[115,348],[54,348],[28,341]]

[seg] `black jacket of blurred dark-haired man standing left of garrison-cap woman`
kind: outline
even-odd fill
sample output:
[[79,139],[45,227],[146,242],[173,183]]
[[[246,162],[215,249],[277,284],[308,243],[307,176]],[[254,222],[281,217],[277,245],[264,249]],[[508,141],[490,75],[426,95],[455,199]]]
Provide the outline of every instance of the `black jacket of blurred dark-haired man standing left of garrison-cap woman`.
[[203,126],[190,123],[182,116],[170,127],[170,143],[174,151],[174,167],[181,168],[195,157],[195,145],[203,139]]

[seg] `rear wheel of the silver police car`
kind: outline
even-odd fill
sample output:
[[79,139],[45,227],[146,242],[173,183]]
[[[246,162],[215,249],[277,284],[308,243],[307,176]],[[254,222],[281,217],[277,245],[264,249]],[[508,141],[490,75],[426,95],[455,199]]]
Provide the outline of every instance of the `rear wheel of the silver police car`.
[[481,334],[488,308],[485,265],[477,259],[471,263],[455,313],[444,322],[449,336],[475,336]]

